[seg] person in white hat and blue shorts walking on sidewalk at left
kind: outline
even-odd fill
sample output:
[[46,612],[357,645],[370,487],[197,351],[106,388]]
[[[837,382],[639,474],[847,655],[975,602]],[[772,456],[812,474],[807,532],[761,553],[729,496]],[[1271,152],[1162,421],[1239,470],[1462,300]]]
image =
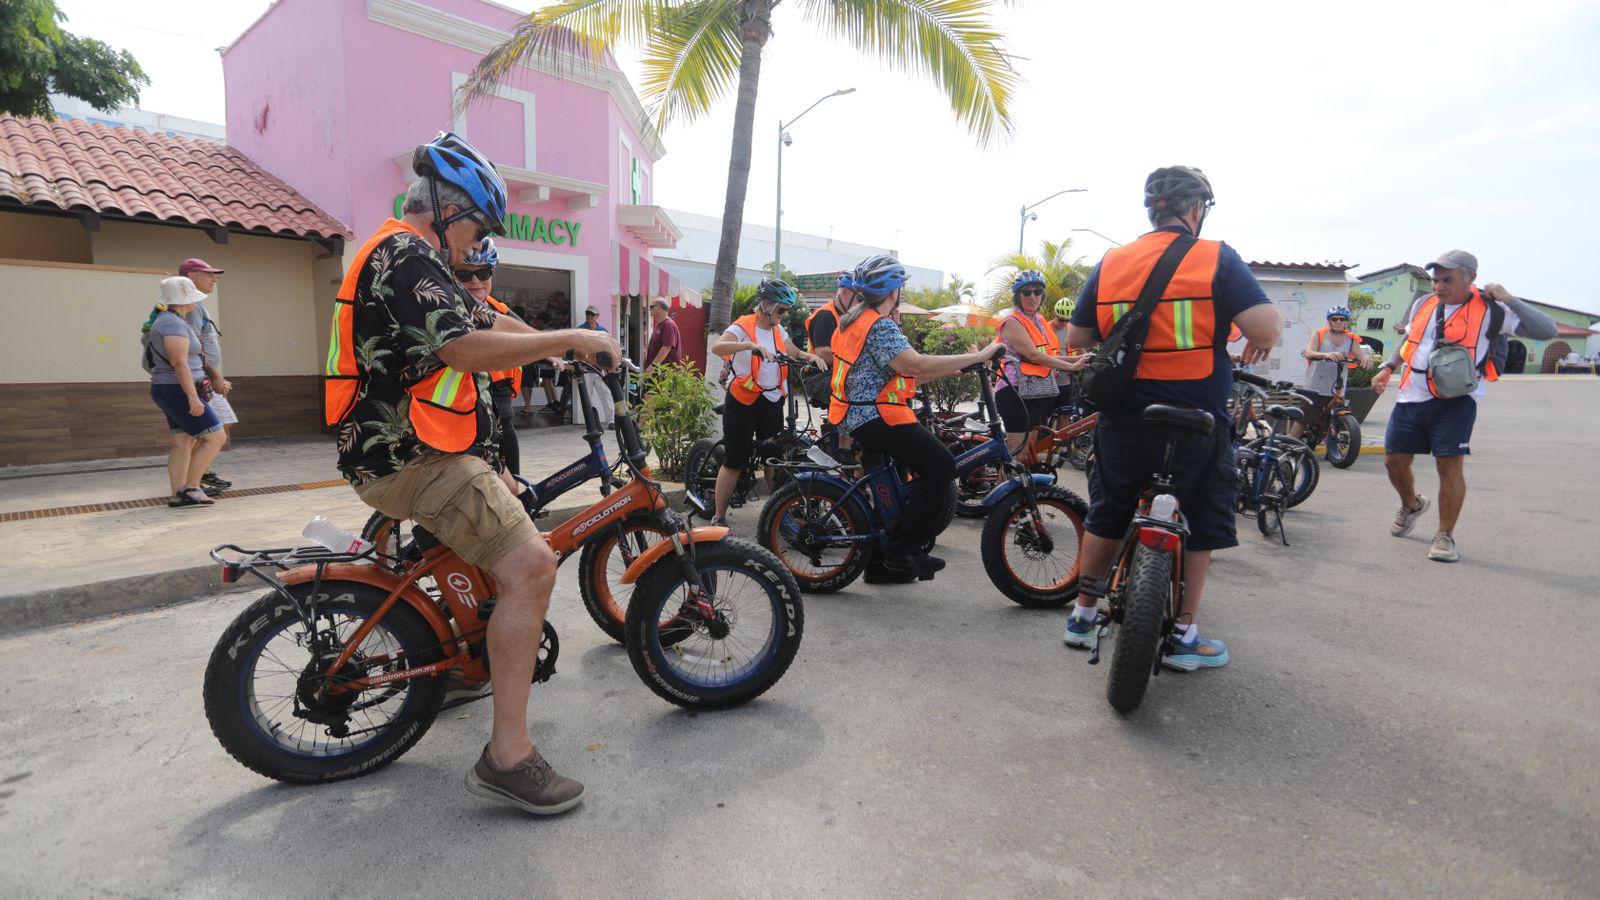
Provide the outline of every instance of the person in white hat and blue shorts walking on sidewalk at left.
[[173,508],[211,506],[200,487],[200,476],[222,450],[222,423],[206,400],[211,384],[205,376],[200,335],[187,315],[205,298],[182,275],[162,280],[162,296],[146,322],[144,362],[150,370],[150,400],[166,416],[173,447],[166,453],[166,480]]

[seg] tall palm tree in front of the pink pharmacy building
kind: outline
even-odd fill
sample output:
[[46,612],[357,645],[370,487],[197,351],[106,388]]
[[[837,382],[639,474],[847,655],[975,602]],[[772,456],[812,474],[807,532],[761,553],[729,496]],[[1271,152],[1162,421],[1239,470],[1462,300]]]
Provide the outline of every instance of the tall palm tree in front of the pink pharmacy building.
[[[933,80],[979,144],[1010,135],[1018,74],[989,13],[1002,0],[797,0],[824,34]],[[710,330],[728,325],[734,263],[750,179],[755,94],[762,48],[773,37],[779,0],[563,0],[528,13],[512,37],[472,69],[458,104],[466,106],[518,64],[562,53],[594,62],[619,42],[643,50],[643,99],[656,127],[693,120],[736,88],[733,152],[712,280]]]

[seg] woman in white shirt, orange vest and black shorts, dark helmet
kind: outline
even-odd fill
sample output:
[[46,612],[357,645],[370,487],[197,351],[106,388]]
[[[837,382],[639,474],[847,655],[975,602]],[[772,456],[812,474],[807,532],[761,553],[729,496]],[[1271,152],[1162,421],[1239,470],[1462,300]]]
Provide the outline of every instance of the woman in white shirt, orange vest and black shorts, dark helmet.
[[715,525],[728,524],[728,503],[739,476],[750,464],[750,450],[784,428],[789,367],[773,362],[773,356],[789,354],[827,368],[819,357],[797,348],[781,325],[797,303],[800,295],[795,288],[778,279],[766,279],[755,287],[755,309],[728,325],[710,346],[710,352],[723,357],[733,372],[728,399],[722,404],[725,453],[717,471]]

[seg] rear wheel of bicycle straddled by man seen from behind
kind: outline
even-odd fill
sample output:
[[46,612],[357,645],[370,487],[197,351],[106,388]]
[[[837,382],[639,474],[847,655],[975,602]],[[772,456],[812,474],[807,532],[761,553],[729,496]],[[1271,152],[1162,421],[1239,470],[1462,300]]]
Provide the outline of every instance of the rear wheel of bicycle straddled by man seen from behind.
[[1112,623],[1115,645],[1106,700],[1118,713],[1133,713],[1144,703],[1150,673],[1160,661],[1162,631],[1173,596],[1173,557],[1166,551],[1138,546],[1128,578],[1122,583],[1122,617]]

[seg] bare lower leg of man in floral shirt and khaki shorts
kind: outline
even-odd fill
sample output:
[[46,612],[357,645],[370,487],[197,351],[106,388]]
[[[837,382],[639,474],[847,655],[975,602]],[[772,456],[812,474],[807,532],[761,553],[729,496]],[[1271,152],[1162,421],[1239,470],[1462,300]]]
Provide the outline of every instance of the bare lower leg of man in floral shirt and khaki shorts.
[[539,661],[544,613],[555,588],[555,552],[534,538],[490,567],[498,589],[490,617],[490,660],[494,665],[494,730],[490,762],[510,769],[533,753],[528,735],[528,695]]

